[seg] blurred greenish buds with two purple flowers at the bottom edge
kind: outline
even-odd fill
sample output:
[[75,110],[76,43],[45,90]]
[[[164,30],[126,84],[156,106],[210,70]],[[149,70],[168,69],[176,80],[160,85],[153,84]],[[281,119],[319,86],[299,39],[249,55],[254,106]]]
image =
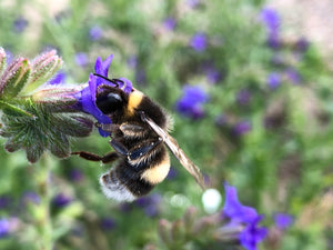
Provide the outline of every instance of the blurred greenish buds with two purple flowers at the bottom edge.
[[268,229],[259,226],[263,216],[258,214],[254,208],[243,206],[234,187],[225,183],[224,189],[225,203],[222,212],[198,219],[196,209],[190,207],[180,220],[160,220],[161,240],[174,249],[181,249],[184,236],[188,236],[186,239],[200,237],[202,240],[215,240],[219,248],[224,243],[238,242],[246,250],[256,250],[268,234]]

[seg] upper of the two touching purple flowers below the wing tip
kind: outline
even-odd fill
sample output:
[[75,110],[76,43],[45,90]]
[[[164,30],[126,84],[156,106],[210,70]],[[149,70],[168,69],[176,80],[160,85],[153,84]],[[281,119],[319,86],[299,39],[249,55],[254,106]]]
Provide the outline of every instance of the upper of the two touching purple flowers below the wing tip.
[[224,183],[225,203],[223,213],[233,222],[251,223],[258,217],[254,208],[243,206],[238,198],[238,190],[228,183]]

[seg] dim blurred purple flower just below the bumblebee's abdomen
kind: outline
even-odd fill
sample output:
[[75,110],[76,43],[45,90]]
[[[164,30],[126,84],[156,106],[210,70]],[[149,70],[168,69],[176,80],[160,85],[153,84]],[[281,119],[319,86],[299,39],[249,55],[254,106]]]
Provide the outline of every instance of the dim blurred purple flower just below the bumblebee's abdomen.
[[142,208],[148,217],[155,217],[160,213],[160,204],[162,202],[162,197],[160,194],[153,193],[148,197],[141,197],[135,201],[139,208]]

